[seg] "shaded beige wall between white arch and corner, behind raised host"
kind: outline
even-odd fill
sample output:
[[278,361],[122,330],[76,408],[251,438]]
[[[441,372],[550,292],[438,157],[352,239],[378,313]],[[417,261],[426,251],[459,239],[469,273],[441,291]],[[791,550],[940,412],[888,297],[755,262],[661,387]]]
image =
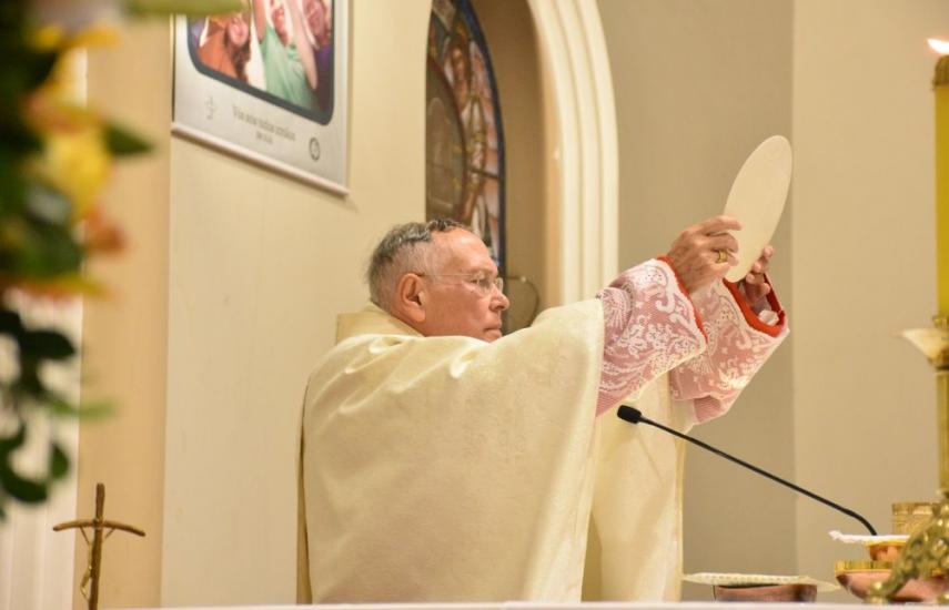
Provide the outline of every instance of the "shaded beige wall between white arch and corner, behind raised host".
[[[616,91],[625,268],[666,252],[688,224],[720,213],[748,153],[775,133],[790,136],[791,2],[600,0],[599,8]],[[789,207],[774,240],[773,277],[786,305],[791,215]],[[728,417],[694,434],[792,476],[792,344],[785,343]],[[794,572],[790,492],[689,449],[685,498],[687,572]],[[738,542],[748,531],[754,539]],[[686,584],[684,594],[709,599],[696,586]]]

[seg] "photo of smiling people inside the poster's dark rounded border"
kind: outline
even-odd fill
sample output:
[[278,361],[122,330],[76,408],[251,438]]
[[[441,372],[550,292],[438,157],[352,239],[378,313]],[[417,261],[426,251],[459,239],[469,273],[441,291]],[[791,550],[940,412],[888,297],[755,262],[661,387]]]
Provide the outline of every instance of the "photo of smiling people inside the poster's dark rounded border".
[[190,19],[194,67],[230,87],[327,124],[333,115],[334,0],[249,0]]

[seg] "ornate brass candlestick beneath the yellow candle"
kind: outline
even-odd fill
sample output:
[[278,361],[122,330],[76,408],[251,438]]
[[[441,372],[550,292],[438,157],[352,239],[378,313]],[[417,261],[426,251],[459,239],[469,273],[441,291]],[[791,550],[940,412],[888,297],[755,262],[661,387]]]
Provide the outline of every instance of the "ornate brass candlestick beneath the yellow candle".
[[[933,318],[932,328],[903,331],[902,336],[926,355],[936,369],[937,420],[939,435],[939,492],[942,501],[932,520],[910,536],[890,577],[875,583],[868,603],[887,603],[903,584],[933,573],[949,573],[949,318]],[[949,603],[949,593],[938,598]]]

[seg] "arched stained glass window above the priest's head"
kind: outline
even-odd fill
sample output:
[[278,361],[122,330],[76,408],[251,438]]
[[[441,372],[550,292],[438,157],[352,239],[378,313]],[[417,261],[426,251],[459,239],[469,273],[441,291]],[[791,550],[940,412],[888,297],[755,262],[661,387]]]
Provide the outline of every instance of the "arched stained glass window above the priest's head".
[[504,134],[491,57],[468,0],[433,0],[425,94],[425,216],[454,218],[504,268]]

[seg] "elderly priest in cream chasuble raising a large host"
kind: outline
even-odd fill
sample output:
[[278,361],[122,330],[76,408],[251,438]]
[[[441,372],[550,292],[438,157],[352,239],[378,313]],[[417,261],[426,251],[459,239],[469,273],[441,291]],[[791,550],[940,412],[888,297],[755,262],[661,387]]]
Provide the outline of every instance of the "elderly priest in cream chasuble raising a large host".
[[[596,298],[502,336],[502,279],[450,221],[386,234],[372,303],[339,318],[304,399],[302,506],[317,602],[674,600],[685,430],[723,415],[787,335],[740,225],[686,228]],[[598,570],[584,573],[596,537]],[[593,551],[590,551],[593,552]]]

